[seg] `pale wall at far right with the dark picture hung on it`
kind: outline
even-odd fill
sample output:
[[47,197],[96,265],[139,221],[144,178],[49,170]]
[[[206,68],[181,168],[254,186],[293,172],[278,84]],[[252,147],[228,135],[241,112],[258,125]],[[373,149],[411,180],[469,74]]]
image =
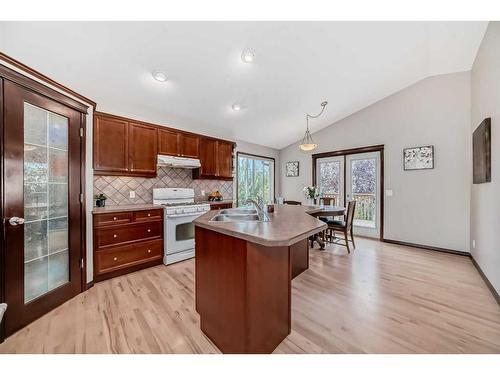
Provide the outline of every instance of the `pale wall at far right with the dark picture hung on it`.
[[500,293],[500,22],[490,22],[471,73],[471,133],[491,117],[491,182],[472,185],[472,256]]

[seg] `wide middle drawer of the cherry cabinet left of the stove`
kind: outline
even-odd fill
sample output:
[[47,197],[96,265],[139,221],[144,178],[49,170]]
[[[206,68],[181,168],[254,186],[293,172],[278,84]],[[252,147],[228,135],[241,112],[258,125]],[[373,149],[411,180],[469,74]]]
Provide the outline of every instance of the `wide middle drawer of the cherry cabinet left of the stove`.
[[122,242],[161,238],[163,223],[137,223],[112,228],[96,228],[94,240],[96,247],[109,246]]

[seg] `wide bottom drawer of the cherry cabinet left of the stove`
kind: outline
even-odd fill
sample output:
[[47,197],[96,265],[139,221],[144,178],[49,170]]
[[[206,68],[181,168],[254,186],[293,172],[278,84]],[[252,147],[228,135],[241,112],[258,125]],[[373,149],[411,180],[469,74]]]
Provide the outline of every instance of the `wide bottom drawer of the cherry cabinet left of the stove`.
[[116,271],[163,257],[163,240],[116,246],[94,253],[96,275]]

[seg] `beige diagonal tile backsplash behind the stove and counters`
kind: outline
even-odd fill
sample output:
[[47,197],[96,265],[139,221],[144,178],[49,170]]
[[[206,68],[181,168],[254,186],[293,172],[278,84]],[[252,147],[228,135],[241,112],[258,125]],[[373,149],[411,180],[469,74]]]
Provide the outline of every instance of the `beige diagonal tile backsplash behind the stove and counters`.
[[[206,195],[215,190],[219,190],[224,199],[233,199],[232,181],[193,180],[190,169],[162,167],[154,178],[94,176],[94,194],[106,195],[109,206],[152,203],[153,189],[162,187],[193,188],[197,200],[206,199]],[[129,198],[131,190],[135,191],[135,198]],[[205,196],[201,195],[202,190]]]

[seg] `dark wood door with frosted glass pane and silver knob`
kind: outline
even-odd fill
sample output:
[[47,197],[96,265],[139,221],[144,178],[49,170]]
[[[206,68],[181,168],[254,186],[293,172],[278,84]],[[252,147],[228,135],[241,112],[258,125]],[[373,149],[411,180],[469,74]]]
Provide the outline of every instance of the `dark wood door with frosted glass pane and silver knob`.
[[82,290],[82,120],[7,80],[3,119],[8,336]]

